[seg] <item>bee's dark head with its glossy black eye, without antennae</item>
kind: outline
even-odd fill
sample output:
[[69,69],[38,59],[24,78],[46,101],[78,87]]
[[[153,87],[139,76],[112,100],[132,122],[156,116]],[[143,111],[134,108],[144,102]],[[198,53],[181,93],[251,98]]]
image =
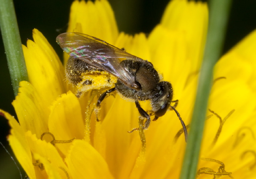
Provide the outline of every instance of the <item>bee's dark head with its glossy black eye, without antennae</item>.
[[161,81],[158,83],[158,89],[159,91],[151,100],[152,111],[154,111],[155,120],[166,113],[173,98],[173,89],[171,83],[167,81]]

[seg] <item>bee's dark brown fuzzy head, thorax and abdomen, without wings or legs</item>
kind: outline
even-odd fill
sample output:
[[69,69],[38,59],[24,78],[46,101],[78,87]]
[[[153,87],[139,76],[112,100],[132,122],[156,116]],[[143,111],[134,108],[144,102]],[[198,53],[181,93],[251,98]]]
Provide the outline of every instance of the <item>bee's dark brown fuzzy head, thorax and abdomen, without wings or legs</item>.
[[[153,64],[146,60],[137,58],[136,60],[124,60],[121,64],[135,77],[139,88],[133,89],[117,79],[115,89],[124,97],[138,100],[151,100],[152,112],[156,117],[161,117],[170,106],[173,97],[172,85],[167,81],[161,81],[158,72]],[[69,57],[66,65],[67,79],[74,85],[80,83],[83,79],[82,73],[89,71],[102,71],[95,66],[87,64],[75,57]],[[91,81],[85,81],[91,84]],[[86,85],[85,84],[85,85]]]

